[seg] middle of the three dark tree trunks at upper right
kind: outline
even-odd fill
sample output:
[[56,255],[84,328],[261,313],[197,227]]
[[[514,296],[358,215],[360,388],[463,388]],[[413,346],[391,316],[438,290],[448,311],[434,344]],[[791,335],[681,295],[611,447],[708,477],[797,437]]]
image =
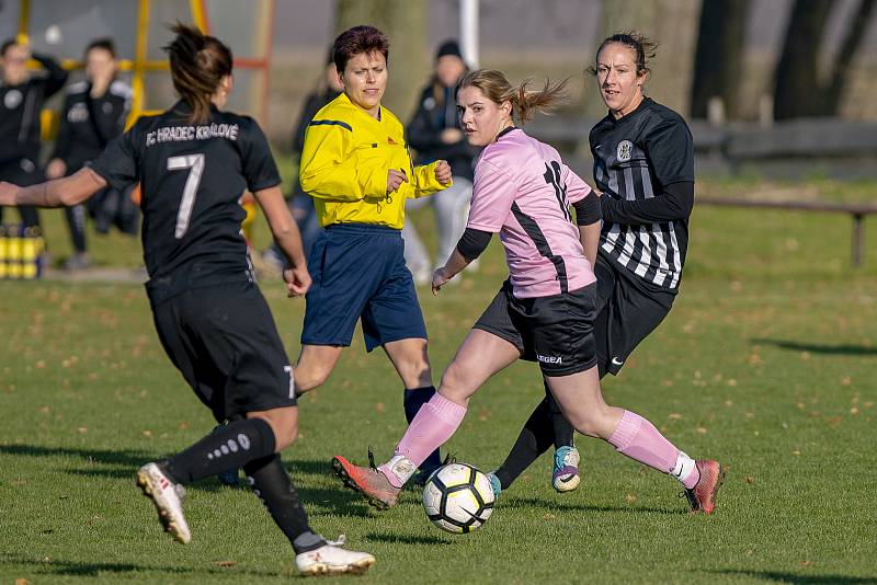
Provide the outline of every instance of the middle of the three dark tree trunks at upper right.
[[774,117],[788,119],[823,112],[819,49],[832,0],[796,0],[774,79]]

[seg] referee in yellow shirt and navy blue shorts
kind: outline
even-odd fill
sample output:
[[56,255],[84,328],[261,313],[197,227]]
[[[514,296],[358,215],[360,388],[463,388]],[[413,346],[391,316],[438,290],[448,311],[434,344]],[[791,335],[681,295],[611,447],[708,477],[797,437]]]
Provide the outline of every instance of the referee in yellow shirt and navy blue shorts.
[[[426,326],[401,229],[405,202],[451,186],[451,165],[413,167],[403,127],[380,105],[387,88],[387,37],[354,26],[332,47],[343,93],[308,126],[301,152],[301,188],[314,197],[320,226],[308,262],[297,393],[322,385],[362,320],[368,352],[383,346],[405,385],[406,418],[435,393],[426,353]],[[438,467],[438,452],[421,468]]]

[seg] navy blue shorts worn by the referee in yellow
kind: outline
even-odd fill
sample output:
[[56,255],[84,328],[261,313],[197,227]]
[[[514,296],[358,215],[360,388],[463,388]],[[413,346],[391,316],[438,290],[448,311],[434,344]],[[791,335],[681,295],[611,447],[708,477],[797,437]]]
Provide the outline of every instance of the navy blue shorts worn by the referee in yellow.
[[362,319],[365,348],[426,339],[400,230],[364,223],[327,227],[308,261],[301,343],[349,346]]

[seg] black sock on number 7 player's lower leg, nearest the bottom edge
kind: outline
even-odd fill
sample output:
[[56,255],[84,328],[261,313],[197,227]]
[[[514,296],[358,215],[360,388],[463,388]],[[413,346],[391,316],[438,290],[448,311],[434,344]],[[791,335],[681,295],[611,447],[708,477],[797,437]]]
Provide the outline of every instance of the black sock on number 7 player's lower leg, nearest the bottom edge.
[[243,466],[243,472],[247,473],[247,483],[289,539],[296,554],[326,544],[326,540],[310,529],[308,515],[298,500],[298,492],[286,473],[280,455],[252,460]]

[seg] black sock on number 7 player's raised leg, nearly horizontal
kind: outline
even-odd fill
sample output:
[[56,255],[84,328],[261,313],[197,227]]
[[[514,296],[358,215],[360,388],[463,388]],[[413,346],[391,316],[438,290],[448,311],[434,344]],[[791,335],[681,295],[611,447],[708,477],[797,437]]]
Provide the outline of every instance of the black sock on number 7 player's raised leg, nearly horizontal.
[[236,421],[210,433],[162,467],[178,483],[216,475],[274,452],[274,432],[262,418]]

